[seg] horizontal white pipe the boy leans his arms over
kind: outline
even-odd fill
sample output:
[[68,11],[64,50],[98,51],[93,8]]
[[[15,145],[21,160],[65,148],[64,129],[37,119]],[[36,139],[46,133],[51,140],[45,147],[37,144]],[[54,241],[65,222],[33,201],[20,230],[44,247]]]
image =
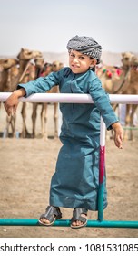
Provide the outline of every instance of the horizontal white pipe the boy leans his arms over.
[[[0,101],[5,100],[12,92],[0,92]],[[111,103],[138,104],[138,95],[109,94]],[[93,103],[89,94],[78,93],[35,93],[19,99],[22,102],[63,102],[63,103]]]

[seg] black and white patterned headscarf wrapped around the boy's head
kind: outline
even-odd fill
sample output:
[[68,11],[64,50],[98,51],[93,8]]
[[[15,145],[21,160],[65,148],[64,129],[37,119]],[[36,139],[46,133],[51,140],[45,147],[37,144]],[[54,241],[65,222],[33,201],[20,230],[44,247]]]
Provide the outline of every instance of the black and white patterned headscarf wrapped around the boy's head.
[[91,37],[75,36],[68,41],[66,48],[77,50],[94,59],[97,59],[97,64],[100,63],[102,47]]

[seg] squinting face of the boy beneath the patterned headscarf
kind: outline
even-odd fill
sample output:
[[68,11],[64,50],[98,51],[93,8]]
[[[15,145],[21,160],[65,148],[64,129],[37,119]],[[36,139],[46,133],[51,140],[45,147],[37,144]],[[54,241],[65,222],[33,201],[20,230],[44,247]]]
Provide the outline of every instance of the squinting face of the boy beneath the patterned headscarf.
[[86,72],[90,66],[95,66],[96,62],[96,59],[90,59],[89,56],[79,51],[71,50],[69,52],[69,66],[74,74]]

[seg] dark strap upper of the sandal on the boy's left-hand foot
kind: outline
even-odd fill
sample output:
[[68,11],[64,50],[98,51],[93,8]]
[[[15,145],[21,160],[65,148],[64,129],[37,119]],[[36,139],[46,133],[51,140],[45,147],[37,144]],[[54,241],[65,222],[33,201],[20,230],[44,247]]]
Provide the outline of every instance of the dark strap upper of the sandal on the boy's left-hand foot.
[[54,219],[62,218],[62,213],[60,211],[60,208],[48,206],[45,209],[45,213],[40,216],[40,219],[42,218],[48,219],[50,222],[52,222],[54,221]]

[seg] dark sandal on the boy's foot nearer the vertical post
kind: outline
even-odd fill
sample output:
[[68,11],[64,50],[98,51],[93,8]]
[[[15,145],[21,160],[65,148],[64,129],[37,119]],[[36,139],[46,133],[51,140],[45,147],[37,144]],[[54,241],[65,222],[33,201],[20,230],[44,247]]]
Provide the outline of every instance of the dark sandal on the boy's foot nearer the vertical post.
[[[85,214],[87,216],[87,209],[86,208],[74,208],[73,211],[73,217],[71,219],[71,228],[72,229],[80,229],[83,228],[84,226],[86,226],[87,224],[87,218],[84,218],[81,216],[81,214]],[[81,222],[83,222],[82,225],[72,225],[74,221],[79,220]]]

